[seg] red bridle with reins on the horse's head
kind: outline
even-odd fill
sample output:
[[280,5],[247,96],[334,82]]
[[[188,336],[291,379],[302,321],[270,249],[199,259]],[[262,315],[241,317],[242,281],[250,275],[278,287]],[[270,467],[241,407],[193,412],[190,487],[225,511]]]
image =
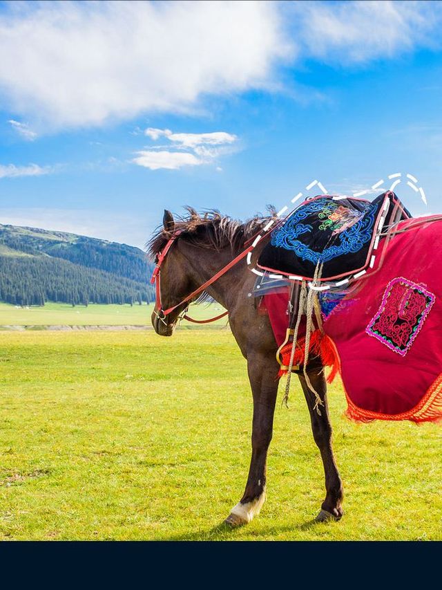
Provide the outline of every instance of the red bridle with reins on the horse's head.
[[[190,295],[187,295],[186,297],[184,297],[184,299],[182,299],[176,305],[173,305],[167,309],[163,309],[162,302],[161,302],[161,266],[164,262],[164,259],[166,258],[167,252],[169,252],[169,250],[173,246],[173,243],[175,242],[175,240],[177,239],[177,237],[181,233],[182,233],[182,230],[177,230],[176,232],[174,232],[171,235],[171,237],[169,238],[169,241],[166,243],[166,246],[164,246],[163,250],[161,252],[158,252],[157,264],[155,265],[155,268],[153,270],[152,277],[151,277],[151,284],[155,283],[156,310],[154,310],[154,313],[157,316],[158,320],[160,320],[160,322],[163,322],[163,324],[165,324],[165,325],[167,325],[167,322],[164,319],[166,317],[166,315],[169,315],[169,313],[172,313],[172,311],[174,311],[177,307],[182,306],[182,304],[184,304],[184,303],[189,304],[191,302],[191,300],[194,297],[196,297],[196,295],[199,295],[208,286],[213,284],[215,281],[218,281],[218,279],[220,277],[222,277],[222,275],[227,273],[228,270],[230,270],[240,260],[242,260],[244,257],[246,257],[247,254],[249,254],[249,252],[251,252],[251,250],[253,250],[253,246],[249,246],[248,248],[246,248],[246,250],[243,250],[236,258],[231,260],[229,262],[229,264],[226,264],[226,266],[223,266],[223,268],[221,270],[218,270],[218,273],[213,275],[213,277],[211,277],[209,280],[207,280],[200,287],[196,288],[195,291],[192,291],[192,293]],[[188,309],[189,309],[189,305],[186,306],[186,308],[184,309],[184,311],[182,312],[182,315],[180,317],[184,318],[184,320],[188,320],[189,322],[193,322],[194,324],[209,324],[209,322],[215,322],[215,320],[220,320],[222,317],[226,316],[229,313],[228,311],[224,311],[224,313],[220,313],[220,315],[217,315],[216,317],[211,317],[209,320],[194,320],[192,317],[189,317],[189,315],[186,314]]]

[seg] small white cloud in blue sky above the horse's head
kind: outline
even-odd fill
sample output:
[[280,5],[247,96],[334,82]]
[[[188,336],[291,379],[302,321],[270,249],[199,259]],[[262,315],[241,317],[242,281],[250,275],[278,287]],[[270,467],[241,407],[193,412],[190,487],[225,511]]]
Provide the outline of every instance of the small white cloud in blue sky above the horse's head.
[[[132,161],[135,164],[157,170],[166,168],[175,170],[183,166],[198,166],[209,164],[219,156],[229,153],[231,146],[238,140],[233,133],[213,131],[211,133],[173,133],[170,129],[156,129],[148,127],[144,135],[153,141],[161,137],[167,138],[181,151],[139,151],[138,157]],[[164,146],[162,146],[164,147]]]

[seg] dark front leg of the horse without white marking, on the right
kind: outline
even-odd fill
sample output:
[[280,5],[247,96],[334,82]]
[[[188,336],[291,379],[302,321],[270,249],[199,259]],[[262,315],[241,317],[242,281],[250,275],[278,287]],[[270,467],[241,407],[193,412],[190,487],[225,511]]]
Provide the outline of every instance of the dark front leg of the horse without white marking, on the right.
[[339,520],[343,515],[341,506],[343,501],[343,486],[340,481],[332,448],[332,425],[330,424],[327,404],[327,384],[322,369],[311,369],[311,371],[307,372],[307,375],[309,376],[311,385],[316,389],[324,403],[324,405],[319,406],[320,414],[318,414],[314,408],[316,402],[314,393],[310,391],[305,377],[300,374],[299,379],[302,391],[304,391],[310,412],[311,430],[313,431],[315,443],[320,450],[325,472],[326,496],[316,520],[318,522],[329,519]]

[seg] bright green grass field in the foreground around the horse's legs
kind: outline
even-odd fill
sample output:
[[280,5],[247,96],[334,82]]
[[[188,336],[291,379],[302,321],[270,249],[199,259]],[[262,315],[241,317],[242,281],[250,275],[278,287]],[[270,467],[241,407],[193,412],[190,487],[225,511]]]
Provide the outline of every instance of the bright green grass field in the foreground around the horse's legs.
[[441,426],[351,423],[334,385],[345,515],[314,524],[322,464],[295,386],[276,410],[267,503],[230,531],[251,394],[229,331],[0,339],[1,539],[442,540]]

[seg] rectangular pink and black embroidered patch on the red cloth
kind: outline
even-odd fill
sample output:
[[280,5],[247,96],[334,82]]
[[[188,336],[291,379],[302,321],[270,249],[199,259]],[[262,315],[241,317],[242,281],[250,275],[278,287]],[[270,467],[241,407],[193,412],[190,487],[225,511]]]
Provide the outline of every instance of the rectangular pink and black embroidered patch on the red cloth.
[[403,277],[387,284],[381,307],[365,331],[392,351],[405,356],[430,313],[436,297]]

